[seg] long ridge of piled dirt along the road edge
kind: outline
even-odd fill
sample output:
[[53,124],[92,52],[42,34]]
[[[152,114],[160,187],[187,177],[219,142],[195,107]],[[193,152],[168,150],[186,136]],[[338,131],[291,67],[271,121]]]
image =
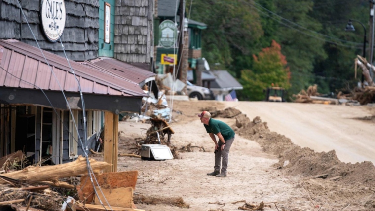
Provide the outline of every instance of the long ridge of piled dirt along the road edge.
[[[283,169],[287,175],[321,176],[324,179],[335,180],[340,185],[362,184],[366,187],[375,185],[373,163],[347,164],[338,159],[335,150],[315,152],[310,148],[301,148],[292,143],[289,138],[276,132],[271,132],[267,123],[262,122],[259,116],[250,121],[245,114],[237,114],[238,110],[235,108],[230,110],[227,108],[225,110],[228,113],[236,114],[236,123],[232,126],[233,130],[244,138],[257,141],[265,152],[277,155],[279,162],[273,166]],[[225,112],[225,110],[218,113]],[[361,190],[358,191],[361,192]],[[359,194],[358,191],[354,192]],[[347,195],[349,196],[350,194]]]

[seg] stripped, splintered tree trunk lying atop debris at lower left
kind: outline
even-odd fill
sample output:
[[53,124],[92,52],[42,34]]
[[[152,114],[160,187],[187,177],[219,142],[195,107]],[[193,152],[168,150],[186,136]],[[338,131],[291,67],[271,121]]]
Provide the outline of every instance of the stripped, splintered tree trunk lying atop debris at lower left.
[[[96,173],[98,173],[100,169],[104,169],[111,165],[106,162],[96,161],[94,159],[89,159],[89,161],[91,168]],[[87,174],[86,164],[86,158],[79,156],[77,160],[70,163],[42,167],[29,166],[20,171],[1,174],[1,176],[30,181],[51,181],[53,179],[59,179],[63,177]],[[4,183],[4,181],[0,181],[0,184]]]

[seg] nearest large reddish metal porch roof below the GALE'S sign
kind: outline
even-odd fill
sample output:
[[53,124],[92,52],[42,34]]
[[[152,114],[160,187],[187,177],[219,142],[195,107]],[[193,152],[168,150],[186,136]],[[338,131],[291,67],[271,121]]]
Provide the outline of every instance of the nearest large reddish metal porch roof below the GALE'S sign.
[[38,48],[17,40],[0,39],[0,86],[61,91],[60,84],[64,91],[78,92],[78,80],[83,93],[147,96],[132,80],[69,60],[75,79],[66,58],[42,52],[50,66]]

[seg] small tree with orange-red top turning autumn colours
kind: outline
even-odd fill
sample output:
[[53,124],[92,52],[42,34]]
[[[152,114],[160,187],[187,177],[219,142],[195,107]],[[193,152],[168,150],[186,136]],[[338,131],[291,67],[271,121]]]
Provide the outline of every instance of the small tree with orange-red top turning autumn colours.
[[240,82],[244,89],[240,100],[260,101],[264,99],[263,89],[271,84],[289,89],[290,71],[280,45],[272,40],[270,47],[263,48],[258,56],[253,55],[252,70],[242,70]]

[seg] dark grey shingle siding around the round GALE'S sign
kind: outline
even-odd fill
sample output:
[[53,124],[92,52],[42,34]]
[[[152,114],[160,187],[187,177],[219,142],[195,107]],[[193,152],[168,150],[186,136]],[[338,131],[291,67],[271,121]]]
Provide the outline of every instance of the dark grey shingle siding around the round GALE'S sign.
[[[21,6],[40,47],[65,57],[61,45],[44,36],[39,19],[40,0],[21,0]],[[97,58],[99,0],[65,0],[65,7],[67,18],[61,40],[68,58],[75,61]],[[18,39],[37,46],[17,0],[0,0],[0,9],[0,39]]]

